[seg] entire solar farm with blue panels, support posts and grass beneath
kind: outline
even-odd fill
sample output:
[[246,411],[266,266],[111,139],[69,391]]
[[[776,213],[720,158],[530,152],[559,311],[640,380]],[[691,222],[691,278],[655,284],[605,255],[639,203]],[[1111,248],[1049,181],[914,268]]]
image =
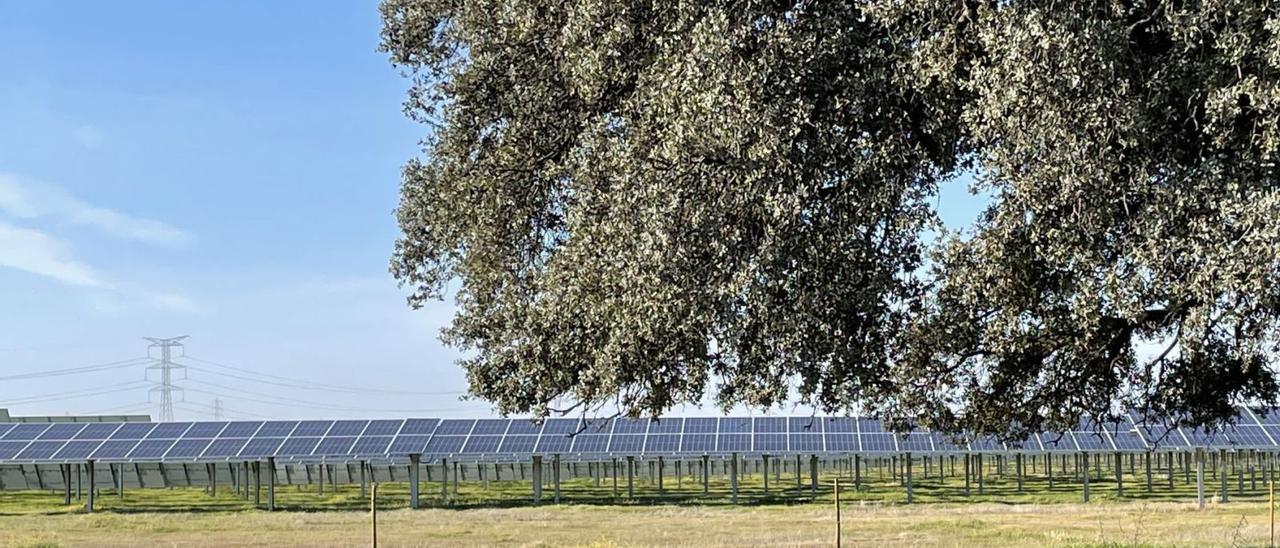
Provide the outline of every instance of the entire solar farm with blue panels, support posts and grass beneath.
[[1137,416],[1085,426],[1005,443],[810,416],[4,423],[0,513],[164,522],[173,512],[325,511],[343,516],[337,524],[367,511],[378,484],[384,528],[407,520],[402,531],[415,528],[403,512],[544,512],[535,515],[553,522],[678,508],[727,512],[717,517],[724,524],[803,515],[801,536],[777,542],[826,543],[837,485],[851,519],[877,522],[955,504],[980,516],[993,503],[1023,508],[997,516],[1258,513],[1280,448],[1276,410],[1242,407],[1234,425],[1212,431]]

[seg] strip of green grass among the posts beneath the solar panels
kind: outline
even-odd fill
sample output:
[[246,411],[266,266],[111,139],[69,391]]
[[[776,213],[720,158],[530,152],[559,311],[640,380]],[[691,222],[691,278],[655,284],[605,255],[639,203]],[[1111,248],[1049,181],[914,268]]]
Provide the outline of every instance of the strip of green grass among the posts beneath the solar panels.
[[[1011,475],[1011,467],[1006,467],[1005,475],[995,474],[995,467],[989,467],[984,478],[982,489],[977,481],[972,481],[969,492],[965,494],[964,478],[951,476],[938,479],[920,476],[922,470],[916,467],[913,479],[914,501],[918,504],[1061,504],[1078,503],[1083,501],[1083,484],[1071,478],[1056,475],[1053,485],[1050,487],[1048,478],[1042,472],[1024,476],[1023,487],[1019,490],[1016,479]],[[950,471],[950,470],[948,470]],[[1091,480],[1091,502],[1097,504],[1111,504],[1116,502],[1193,502],[1196,499],[1194,478],[1188,483],[1181,474],[1174,478],[1172,488],[1169,487],[1167,476],[1157,474],[1153,478],[1152,490],[1146,490],[1146,478],[1140,474],[1128,475],[1125,470],[1125,488],[1123,496],[1117,492],[1114,471],[1103,471],[1102,478],[1094,476]],[[936,471],[934,471],[936,474]],[[1103,479],[1105,478],[1105,479]],[[1261,502],[1266,499],[1266,485],[1263,475],[1257,474],[1257,481],[1252,481],[1249,475],[1244,475],[1244,494],[1238,494],[1239,485],[1236,476],[1229,479],[1229,496],[1231,499]],[[782,475],[781,479],[771,476],[769,488],[765,490],[764,478],[760,474],[742,474],[739,481],[739,506],[787,506],[812,503],[829,503],[833,494],[833,483],[837,475],[828,472],[820,478],[817,497],[809,488],[809,478],[803,476],[800,485],[796,484],[794,474]],[[849,475],[841,478],[841,497],[847,504],[905,504],[906,489],[900,480],[891,478],[887,469],[864,470],[863,481],[858,488]],[[564,479],[561,484],[561,502],[572,504],[599,504],[599,506],[730,506],[732,504],[732,490],[728,478],[717,474],[710,478],[707,494],[703,493],[700,481],[695,478],[667,476],[663,481],[663,493],[659,494],[657,480],[646,476],[637,476],[634,484],[634,497],[626,496],[626,479],[618,478],[617,497],[613,494],[612,479],[605,476],[596,487],[589,478]],[[1216,498],[1220,481],[1206,478],[1207,497]],[[316,492],[315,485],[278,485],[276,508],[284,511],[361,511],[367,510],[367,499],[360,496],[358,485],[338,485],[334,492],[328,485],[324,494]],[[383,510],[408,507],[408,484],[387,483],[379,487],[379,507]],[[462,481],[457,493],[452,485],[447,496],[442,497],[438,481],[421,484],[420,506],[438,508],[507,508],[531,506],[532,483],[529,480],[503,480],[503,481]],[[262,504],[266,503],[266,489],[262,489]],[[553,484],[548,480],[543,485],[543,502],[550,503],[554,499]],[[74,501],[73,504],[63,504],[63,494],[58,490],[24,490],[0,492],[0,515],[24,513],[68,513],[82,511],[83,502]],[[173,488],[173,489],[127,489],[122,499],[113,489],[100,489],[96,507],[104,512],[243,512],[255,510],[252,499],[243,499],[232,492],[230,485],[219,485],[216,496],[210,496],[200,488]]]

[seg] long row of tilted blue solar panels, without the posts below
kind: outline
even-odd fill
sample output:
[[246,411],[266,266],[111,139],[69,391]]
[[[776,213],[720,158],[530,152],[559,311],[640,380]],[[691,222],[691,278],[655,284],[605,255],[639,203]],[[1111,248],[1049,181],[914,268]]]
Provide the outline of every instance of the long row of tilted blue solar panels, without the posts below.
[[667,417],[662,420],[408,419],[229,423],[0,424],[0,461],[174,461],[276,457],[901,453],[1276,448],[1280,412],[1243,410],[1211,431],[1146,424],[1044,431],[1021,442],[896,434],[867,417]]

